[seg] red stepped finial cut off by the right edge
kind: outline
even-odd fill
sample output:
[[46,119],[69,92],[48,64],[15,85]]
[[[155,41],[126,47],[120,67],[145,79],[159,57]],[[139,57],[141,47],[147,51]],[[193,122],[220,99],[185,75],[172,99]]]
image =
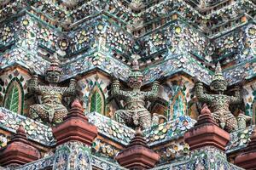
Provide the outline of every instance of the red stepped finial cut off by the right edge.
[[241,152],[236,156],[235,164],[245,169],[256,169],[256,127],[254,127],[251,141]]

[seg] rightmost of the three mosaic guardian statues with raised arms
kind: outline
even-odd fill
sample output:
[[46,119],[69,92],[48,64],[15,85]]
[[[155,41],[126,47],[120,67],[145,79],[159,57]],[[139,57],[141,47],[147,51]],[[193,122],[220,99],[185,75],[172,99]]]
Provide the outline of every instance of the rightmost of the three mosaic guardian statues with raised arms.
[[224,91],[227,89],[227,85],[218,63],[210,84],[210,88],[215,94],[205,94],[202,82],[197,81],[195,83],[195,95],[200,102],[210,106],[215,122],[226,131],[232,132],[237,129],[237,121],[230,112],[229,106],[241,103],[241,94],[239,88],[236,88],[235,96],[225,95]]

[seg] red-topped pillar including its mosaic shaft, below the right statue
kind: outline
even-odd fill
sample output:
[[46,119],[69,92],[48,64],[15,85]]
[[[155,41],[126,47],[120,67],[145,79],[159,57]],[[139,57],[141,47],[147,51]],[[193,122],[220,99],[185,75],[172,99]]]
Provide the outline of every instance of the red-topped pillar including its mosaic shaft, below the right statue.
[[[184,140],[191,150],[188,167],[192,169],[236,169],[227,161],[225,147],[230,133],[218,127],[207,105],[203,106],[195,127],[184,134]],[[233,168],[234,167],[234,168]]]

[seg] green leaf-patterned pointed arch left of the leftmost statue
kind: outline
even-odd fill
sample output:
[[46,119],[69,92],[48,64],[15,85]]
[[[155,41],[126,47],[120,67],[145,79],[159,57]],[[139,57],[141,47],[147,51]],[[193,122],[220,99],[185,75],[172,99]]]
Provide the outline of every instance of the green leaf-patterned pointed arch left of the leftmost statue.
[[6,88],[3,107],[22,115],[24,105],[24,90],[17,77],[14,77]]

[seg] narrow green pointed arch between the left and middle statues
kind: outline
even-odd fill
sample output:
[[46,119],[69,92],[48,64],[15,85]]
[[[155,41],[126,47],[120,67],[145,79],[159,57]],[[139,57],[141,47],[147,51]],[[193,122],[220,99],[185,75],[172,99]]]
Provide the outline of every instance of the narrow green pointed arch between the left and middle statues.
[[105,115],[105,95],[99,84],[96,84],[90,93],[90,112],[96,111]]

